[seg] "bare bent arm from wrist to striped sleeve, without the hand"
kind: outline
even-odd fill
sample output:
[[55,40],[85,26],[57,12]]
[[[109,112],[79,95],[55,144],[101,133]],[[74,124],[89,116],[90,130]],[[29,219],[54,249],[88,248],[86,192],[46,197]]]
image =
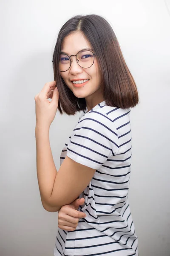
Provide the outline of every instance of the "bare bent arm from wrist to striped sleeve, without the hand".
[[78,198],[90,183],[96,169],[66,156],[57,172],[50,147],[49,128],[36,123],[37,177],[43,207],[55,212]]

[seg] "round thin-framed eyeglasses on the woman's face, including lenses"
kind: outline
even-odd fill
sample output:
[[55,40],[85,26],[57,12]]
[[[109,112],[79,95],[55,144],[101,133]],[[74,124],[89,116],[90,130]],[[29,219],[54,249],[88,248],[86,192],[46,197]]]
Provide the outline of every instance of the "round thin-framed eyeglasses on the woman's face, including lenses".
[[[94,64],[94,55],[96,53],[93,53],[90,50],[81,50],[77,52],[77,55],[66,55],[66,54],[60,54],[59,55],[59,71],[65,72],[69,70],[71,67],[71,56],[76,56],[76,61],[82,68],[89,68]],[[53,62],[53,61],[52,61]]]

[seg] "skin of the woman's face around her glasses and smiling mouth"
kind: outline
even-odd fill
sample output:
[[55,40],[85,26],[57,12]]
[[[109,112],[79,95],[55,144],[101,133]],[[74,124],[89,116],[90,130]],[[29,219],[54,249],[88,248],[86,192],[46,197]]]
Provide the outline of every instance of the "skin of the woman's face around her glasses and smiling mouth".
[[[82,49],[91,49],[91,45],[81,32],[73,32],[71,35],[65,37],[62,42],[61,52],[67,53],[68,56],[76,55]],[[92,52],[94,52],[92,50]],[[94,52],[95,53],[95,52]],[[89,105],[96,102],[98,99],[101,102],[101,74],[99,72],[99,65],[97,63],[96,55],[94,57],[94,64],[89,68],[82,68],[76,61],[76,56],[71,56],[71,67],[65,71],[60,72],[65,84],[70,88],[77,98],[85,98]],[[89,79],[84,86],[76,87],[71,81]],[[98,103],[96,103],[98,104]]]

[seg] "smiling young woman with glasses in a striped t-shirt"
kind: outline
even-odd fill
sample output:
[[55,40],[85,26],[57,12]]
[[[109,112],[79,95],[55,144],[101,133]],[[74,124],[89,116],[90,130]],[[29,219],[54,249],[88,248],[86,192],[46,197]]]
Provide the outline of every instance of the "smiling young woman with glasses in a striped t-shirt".
[[[46,210],[62,212],[62,207],[77,198],[85,200],[78,209],[84,217],[77,227],[58,228],[54,255],[137,256],[128,189],[129,115],[139,99],[109,23],[98,15],[69,19],[59,31],[53,67],[54,81],[35,96],[41,201]],[[62,150],[58,172],[49,142],[57,109],[68,115],[82,111]],[[70,212],[63,223],[69,227],[79,215],[67,209]]]

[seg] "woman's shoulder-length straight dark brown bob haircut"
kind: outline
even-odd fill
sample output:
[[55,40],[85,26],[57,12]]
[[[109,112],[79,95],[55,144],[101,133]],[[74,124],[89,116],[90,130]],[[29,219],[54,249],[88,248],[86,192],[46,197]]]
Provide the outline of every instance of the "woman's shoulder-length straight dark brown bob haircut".
[[[102,76],[101,90],[106,105],[118,108],[133,108],[139,103],[138,91],[128,69],[111,25],[99,15],[77,15],[71,17],[60,29],[53,52],[53,71],[59,91],[58,109],[68,115],[86,109],[85,98],[77,98],[68,88],[59,73],[59,53],[63,39],[81,32],[96,53]],[[62,108],[61,108],[62,107]]]

